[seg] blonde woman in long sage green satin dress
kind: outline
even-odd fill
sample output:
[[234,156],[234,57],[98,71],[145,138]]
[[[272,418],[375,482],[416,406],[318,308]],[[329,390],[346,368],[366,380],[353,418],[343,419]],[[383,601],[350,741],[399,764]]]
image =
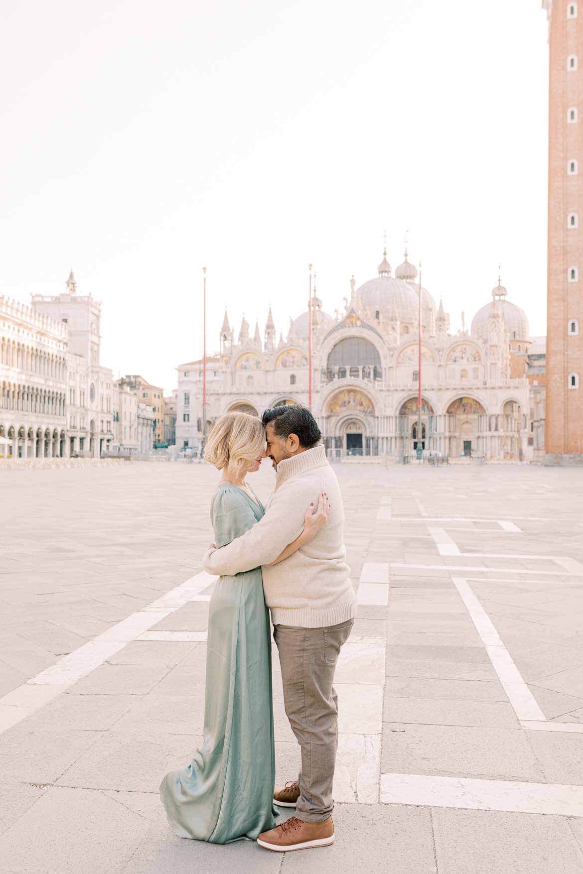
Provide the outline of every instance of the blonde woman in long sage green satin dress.
[[[227,413],[209,436],[205,461],[222,471],[212,497],[216,545],[224,546],[259,522],[265,510],[246,485],[259,470],[265,430],[254,416]],[[288,558],[326,524],[320,496],[298,538],[275,559]],[[160,786],[166,815],[180,837],[211,843],[255,840],[274,828],[275,752],[271,691],[271,633],[260,567],[219,577],[209,609],[205,738],[184,771]]]

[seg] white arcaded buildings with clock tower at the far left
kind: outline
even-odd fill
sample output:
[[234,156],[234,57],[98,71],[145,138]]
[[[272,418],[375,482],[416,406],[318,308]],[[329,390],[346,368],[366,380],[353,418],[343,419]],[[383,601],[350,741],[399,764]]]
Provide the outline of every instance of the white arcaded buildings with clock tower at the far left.
[[100,364],[100,318],[101,303],[77,295],[73,271],[66,292],[32,295],[31,307],[0,298],[0,454],[97,458],[108,451],[113,380]]

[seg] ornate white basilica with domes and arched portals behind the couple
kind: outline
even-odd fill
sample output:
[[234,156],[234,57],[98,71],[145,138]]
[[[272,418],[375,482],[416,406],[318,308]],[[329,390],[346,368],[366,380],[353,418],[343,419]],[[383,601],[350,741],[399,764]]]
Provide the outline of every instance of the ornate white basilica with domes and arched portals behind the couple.
[[[385,252],[374,278],[359,288],[353,278],[343,313],[325,313],[317,292],[311,306],[312,411],[330,457],[404,457],[418,439],[426,452],[450,458],[537,461],[542,454],[530,421],[529,323],[500,279],[469,329],[464,323],[455,334],[443,303],[420,288],[407,253],[394,273]],[[177,447],[195,451],[203,437],[202,368],[200,360],[177,368]],[[245,318],[235,336],[225,314],[206,377],[207,432],[230,410],[307,406],[309,309],[279,340],[271,310],[263,336],[258,324],[252,336]]]

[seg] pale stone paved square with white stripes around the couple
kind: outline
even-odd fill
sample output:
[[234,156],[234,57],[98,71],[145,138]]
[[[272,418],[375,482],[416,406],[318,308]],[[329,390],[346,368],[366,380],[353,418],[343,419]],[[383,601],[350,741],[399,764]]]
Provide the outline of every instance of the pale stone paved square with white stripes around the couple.
[[[1,473],[0,870],[583,870],[583,470],[335,470],[358,614],[317,858],[185,841],[158,801],[202,736],[216,472]],[[274,710],[285,781],[275,653]]]

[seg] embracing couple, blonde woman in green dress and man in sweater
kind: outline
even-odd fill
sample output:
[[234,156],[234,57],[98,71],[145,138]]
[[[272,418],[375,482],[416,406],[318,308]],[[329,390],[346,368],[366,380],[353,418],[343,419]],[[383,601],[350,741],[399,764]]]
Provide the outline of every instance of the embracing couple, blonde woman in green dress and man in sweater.
[[[266,451],[267,440],[267,451]],[[212,843],[257,840],[284,852],[334,841],[337,657],[356,614],[344,562],[344,510],[322,434],[309,410],[276,406],[262,420],[227,413],[205,460],[221,471],[212,498],[216,545],[205,570],[218,574],[210,602],[203,745],[160,787],[178,836]],[[246,474],[273,462],[264,508]],[[275,789],[271,630],[283,699],[302,748],[297,780]],[[275,826],[277,808],[295,815]]]

